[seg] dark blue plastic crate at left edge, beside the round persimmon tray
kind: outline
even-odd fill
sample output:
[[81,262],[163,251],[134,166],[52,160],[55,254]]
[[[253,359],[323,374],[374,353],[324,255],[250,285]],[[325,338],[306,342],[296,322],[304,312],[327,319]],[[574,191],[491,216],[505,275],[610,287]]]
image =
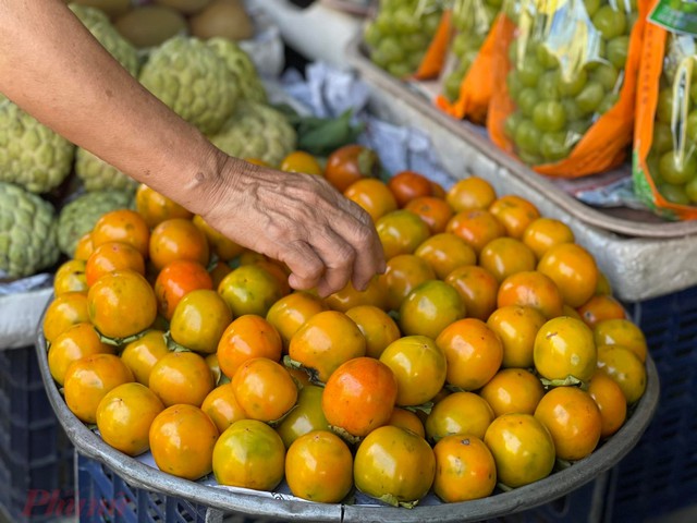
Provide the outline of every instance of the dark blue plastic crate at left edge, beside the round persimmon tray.
[[56,518],[73,497],[73,448],[44,389],[34,348],[0,351],[0,506],[11,521]]

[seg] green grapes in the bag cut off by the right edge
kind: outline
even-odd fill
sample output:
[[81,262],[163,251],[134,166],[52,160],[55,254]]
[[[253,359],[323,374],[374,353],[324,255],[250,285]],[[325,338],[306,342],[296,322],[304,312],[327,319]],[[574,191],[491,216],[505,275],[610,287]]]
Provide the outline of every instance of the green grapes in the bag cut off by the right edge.
[[697,204],[697,45],[690,36],[673,36],[667,49],[647,167],[665,199],[692,205]]

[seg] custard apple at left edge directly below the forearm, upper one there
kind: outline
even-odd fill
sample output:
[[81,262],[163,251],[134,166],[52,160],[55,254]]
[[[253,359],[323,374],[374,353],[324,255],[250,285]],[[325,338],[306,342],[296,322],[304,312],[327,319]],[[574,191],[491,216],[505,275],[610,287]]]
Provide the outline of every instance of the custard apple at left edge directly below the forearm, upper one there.
[[47,193],[71,172],[75,146],[0,98],[0,181]]

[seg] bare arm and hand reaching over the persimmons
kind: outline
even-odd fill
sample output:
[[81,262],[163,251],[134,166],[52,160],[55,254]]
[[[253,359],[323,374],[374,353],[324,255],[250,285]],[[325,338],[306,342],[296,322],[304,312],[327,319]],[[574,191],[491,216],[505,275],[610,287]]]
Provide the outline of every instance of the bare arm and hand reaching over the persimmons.
[[326,181],[258,168],[212,146],[150,95],[60,0],[0,0],[0,92],[37,120],[280,259],[321,294],[382,270],[370,219]]

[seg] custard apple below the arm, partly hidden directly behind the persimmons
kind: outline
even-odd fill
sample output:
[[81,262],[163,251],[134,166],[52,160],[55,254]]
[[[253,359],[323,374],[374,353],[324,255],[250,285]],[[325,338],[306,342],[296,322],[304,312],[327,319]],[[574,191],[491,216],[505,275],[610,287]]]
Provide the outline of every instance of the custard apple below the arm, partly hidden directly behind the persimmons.
[[133,193],[110,190],[77,196],[65,204],[58,216],[58,246],[69,257],[75,253],[77,241],[95,227],[101,215],[133,207]]

